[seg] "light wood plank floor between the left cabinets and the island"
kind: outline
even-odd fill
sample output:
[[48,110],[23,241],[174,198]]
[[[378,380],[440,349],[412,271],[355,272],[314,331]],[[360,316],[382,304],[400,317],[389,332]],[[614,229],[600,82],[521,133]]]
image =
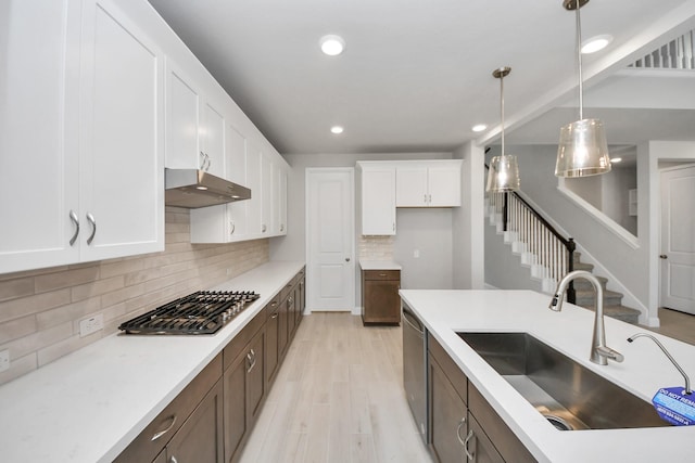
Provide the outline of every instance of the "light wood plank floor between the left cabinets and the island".
[[400,326],[304,317],[242,463],[430,463],[403,390]]

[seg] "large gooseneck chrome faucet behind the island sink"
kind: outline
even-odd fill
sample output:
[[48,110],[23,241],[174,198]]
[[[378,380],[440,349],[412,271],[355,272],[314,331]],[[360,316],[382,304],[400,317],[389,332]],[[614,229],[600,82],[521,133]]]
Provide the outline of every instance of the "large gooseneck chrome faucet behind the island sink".
[[594,317],[594,335],[591,342],[591,356],[589,360],[599,365],[607,365],[608,359],[621,362],[624,357],[617,350],[606,346],[606,327],[604,325],[604,288],[596,276],[585,270],[574,270],[567,273],[557,284],[555,295],[548,308],[559,312],[563,310],[564,294],[569,283],[578,278],[587,280],[596,291],[596,314]]

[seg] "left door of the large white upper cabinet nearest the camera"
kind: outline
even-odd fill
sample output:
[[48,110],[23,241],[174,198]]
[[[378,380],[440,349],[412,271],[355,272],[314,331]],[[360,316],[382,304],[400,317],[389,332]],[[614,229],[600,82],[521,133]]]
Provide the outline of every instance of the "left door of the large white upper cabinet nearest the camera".
[[76,261],[78,244],[70,245],[76,227],[70,214],[79,214],[80,2],[4,3],[9,4],[0,14],[0,273]]

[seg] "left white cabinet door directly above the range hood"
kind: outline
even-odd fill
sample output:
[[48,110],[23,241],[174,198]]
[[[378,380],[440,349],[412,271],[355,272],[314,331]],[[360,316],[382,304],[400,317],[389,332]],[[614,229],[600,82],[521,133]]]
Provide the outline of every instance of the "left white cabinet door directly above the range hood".
[[201,95],[192,80],[172,60],[166,62],[166,167],[198,168]]

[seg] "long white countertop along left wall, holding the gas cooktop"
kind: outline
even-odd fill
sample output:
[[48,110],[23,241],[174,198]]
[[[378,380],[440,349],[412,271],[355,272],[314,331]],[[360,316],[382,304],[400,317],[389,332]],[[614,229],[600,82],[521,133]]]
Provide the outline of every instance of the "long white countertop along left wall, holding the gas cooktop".
[[0,461],[113,461],[303,266],[267,262],[212,287],[261,295],[214,335],[114,334],[0,386]]

